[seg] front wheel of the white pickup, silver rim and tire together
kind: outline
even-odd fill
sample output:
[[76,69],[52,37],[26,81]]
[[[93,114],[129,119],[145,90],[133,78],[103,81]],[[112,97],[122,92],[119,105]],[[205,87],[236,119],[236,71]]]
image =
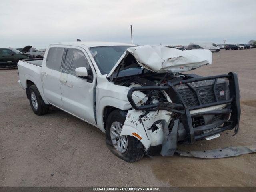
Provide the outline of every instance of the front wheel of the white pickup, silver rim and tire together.
[[106,144],[110,151],[127,162],[136,162],[144,156],[141,142],[133,136],[122,136],[126,116],[121,110],[112,111],[106,121]]

